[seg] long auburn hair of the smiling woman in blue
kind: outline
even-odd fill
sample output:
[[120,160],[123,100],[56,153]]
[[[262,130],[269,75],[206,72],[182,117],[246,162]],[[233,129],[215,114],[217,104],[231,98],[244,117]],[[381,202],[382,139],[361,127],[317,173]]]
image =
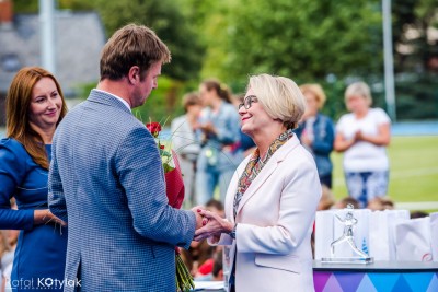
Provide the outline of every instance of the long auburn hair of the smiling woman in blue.
[[49,162],[43,138],[32,129],[28,120],[32,90],[43,78],[50,78],[55,82],[59,96],[62,100],[61,113],[57,125],[67,114],[66,101],[55,77],[43,68],[25,67],[15,74],[9,87],[7,96],[7,137],[22,143],[34,162],[48,170]]

